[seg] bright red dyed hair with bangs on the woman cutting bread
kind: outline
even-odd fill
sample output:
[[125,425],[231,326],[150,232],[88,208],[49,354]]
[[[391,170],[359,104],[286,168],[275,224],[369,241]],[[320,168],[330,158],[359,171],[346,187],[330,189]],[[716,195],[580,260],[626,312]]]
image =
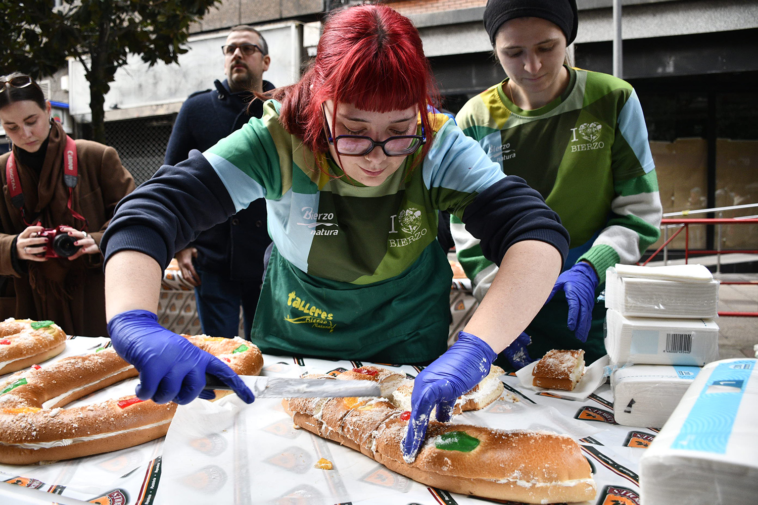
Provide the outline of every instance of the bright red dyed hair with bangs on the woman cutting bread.
[[[427,142],[432,131],[427,105],[437,102],[437,87],[424,56],[418,30],[387,5],[356,5],[334,11],[324,24],[315,61],[298,83],[277,89],[280,122],[314,152],[329,151],[324,132],[324,101],[354,104],[372,112],[418,107]],[[318,159],[318,157],[317,157]],[[317,161],[318,163],[318,161]],[[323,170],[324,167],[321,167]]]

